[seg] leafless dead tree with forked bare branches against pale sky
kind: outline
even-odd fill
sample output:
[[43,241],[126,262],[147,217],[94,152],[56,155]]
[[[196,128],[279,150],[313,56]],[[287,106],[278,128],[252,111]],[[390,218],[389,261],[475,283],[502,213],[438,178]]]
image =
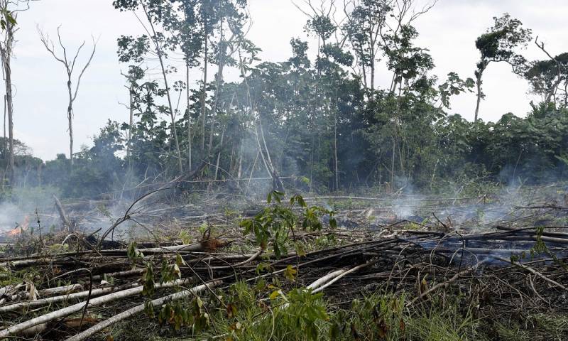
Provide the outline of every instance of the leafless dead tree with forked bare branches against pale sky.
[[55,53],[55,45],[53,44],[53,41],[50,40],[48,34],[43,33],[43,31],[41,31],[39,27],[38,33],[43,46],[45,46],[45,49],[48,50],[51,55],[53,55],[53,58],[55,58],[55,60],[65,66],[65,72],[67,72],[67,93],[69,94],[69,104],[67,104],[67,120],[69,121],[69,158],[70,165],[71,167],[73,167],[73,102],[75,102],[75,99],[77,99],[77,92],[79,92],[81,78],[83,77],[85,70],[87,70],[87,67],[91,65],[94,52],[95,50],[97,50],[97,40],[94,40],[94,38],[92,38],[93,50],[91,52],[91,55],[89,56],[89,60],[87,60],[87,63],[85,63],[85,65],[83,66],[79,77],[77,77],[77,80],[75,82],[75,90],[73,90],[72,75],[73,71],[75,70],[75,63],[77,63],[77,57],[79,56],[85,42],[83,40],[83,43],[79,46],[79,48],[77,48],[75,57],[73,57],[72,59],[68,58],[67,48],[65,48],[65,45],[63,45],[61,40],[60,28],[61,26],[58,26],[58,41],[62,49],[63,57],[58,57],[57,53]]

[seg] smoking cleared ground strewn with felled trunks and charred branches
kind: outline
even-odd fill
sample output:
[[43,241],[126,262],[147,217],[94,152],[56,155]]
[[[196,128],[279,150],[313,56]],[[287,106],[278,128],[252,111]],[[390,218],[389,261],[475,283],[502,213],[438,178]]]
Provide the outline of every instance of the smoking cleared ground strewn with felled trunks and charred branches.
[[[413,314],[425,307],[454,304],[461,315],[485,321],[476,330],[490,340],[506,336],[562,340],[567,335],[568,207],[559,187],[468,197],[305,195],[305,200],[334,211],[337,227],[330,228],[329,215],[322,215],[323,228],[297,229],[288,236],[288,254],[280,257],[270,245],[259,252],[254,236],[243,234],[240,222],[261,212],[266,204],[260,200],[237,204],[212,196],[173,203],[159,197],[139,202],[131,210],[128,202],[68,202],[64,204],[72,221],[68,231],[58,230],[61,222],[56,212],[38,212],[33,220],[28,217],[27,226],[21,224],[11,230],[14,235],[4,237],[0,251],[3,328],[104,296],[101,289],[118,292],[145,286],[140,278],[152,264],[154,285],[175,278],[188,278],[191,284],[156,289],[150,298],[203,283],[226,291],[238,281],[251,286],[269,281],[272,289],[258,293],[259,302],[267,304],[274,287],[285,292],[333,275],[313,287],[322,287],[330,313],[353,310],[354,299],[381,292],[403,295],[405,309]],[[302,215],[302,210],[295,212]],[[34,227],[38,217],[39,227]],[[111,227],[112,232],[100,242]],[[142,256],[133,257],[133,249]],[[164,269],[173,264],[178,264],[179,274],[164,279]],[[48,305],[47,298],[60,296],[50,289],[62,286],[75,286],[69,288],[73,293],[94,290],[96,294]],[[210,292],[204,296],[209,304],[215,301]],[[54,340],[70,337],[140,305],[144,297],[137,293],[89,305],[88,311],[72,311],[33,324],[38,330],[23,328],[13,334]],[[80,326],[77,318],[84,320]],[[152,318],[143,320],[154,326],[155,337],[169,335],[168,328]],[[531,334],[531,328],[537,333]],[[109,332],[117,330],[91,337]],[[209,330],[204,335],[214,334]]]

